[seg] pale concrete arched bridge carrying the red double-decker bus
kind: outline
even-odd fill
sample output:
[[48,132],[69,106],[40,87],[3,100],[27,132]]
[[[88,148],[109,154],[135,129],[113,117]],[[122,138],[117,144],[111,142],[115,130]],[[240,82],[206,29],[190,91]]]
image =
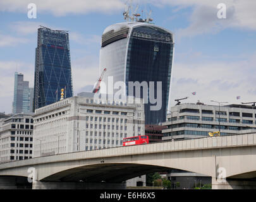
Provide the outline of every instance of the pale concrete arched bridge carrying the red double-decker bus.
[[212,189],[256,189],[256,134],[166,141],[2,163],[0,188],[16,188],[18,181],[27,181],[29,168],[35,170],[33,189],[122,189],[127,179],[170,169],[212,177]]

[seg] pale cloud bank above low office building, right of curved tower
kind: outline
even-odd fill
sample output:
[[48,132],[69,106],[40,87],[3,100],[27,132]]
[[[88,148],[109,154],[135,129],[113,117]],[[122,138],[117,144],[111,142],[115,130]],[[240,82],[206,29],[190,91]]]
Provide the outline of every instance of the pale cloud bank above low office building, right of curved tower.
[[[186,96],[189,98],[184,102],[200,100],[205,104],[212,104],[210,100],[227,101],[229,104],[256,100],[255,61],[256,52],[243,61],[175,62],[171,105],[176,104],[174,99]],[[192,95],[192,92],[197,92],[197,95]],[[241,100],[236,100],[236,96],[241,96]]]

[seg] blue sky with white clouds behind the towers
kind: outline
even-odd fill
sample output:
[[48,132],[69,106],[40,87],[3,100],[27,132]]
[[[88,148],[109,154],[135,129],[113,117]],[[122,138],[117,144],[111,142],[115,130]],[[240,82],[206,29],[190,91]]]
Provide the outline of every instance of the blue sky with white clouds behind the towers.
[[[39,1],[37,18],[27,17],[23,0],[0,0],[0,112],[11,112],[15,71],[34,86],[37,28],[69,30],[75,95],[90,89],[99,76],[99,50],[104,29],[123,22],[125,1]],[[226,19],[217,18],[217,4],[226,4]],[[133,1],[145,18],[152,10],[155,25],[174,33],[171,104],[197,100],[255,102],[256,1]],[[197,95],[192,95],[197,92]],[[241,96],[236,100],[236,96]]]

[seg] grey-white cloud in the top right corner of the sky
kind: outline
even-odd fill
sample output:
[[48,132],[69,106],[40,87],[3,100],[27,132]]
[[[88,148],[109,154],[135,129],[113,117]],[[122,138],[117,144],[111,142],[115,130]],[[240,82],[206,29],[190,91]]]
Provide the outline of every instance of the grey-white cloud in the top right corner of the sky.
[[[256,30],[256,1],[251,0],[152,0],[154,6],[192,7],[188,18],[190,25],[177,30],[176,36],[193,37],[204,33],[216,33],[226,28]],[[219,3],[226,4],[226,19],[217,18]]]

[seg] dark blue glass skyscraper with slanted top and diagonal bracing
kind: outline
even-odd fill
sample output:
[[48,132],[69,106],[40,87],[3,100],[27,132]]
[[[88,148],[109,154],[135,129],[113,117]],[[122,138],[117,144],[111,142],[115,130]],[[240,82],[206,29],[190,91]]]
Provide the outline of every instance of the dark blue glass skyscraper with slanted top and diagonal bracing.
[[[73,96],[68,32],[40,27],[35,49],[34,110]],[[33,110],[33,111],[34,111]]]

